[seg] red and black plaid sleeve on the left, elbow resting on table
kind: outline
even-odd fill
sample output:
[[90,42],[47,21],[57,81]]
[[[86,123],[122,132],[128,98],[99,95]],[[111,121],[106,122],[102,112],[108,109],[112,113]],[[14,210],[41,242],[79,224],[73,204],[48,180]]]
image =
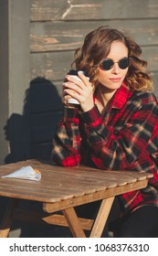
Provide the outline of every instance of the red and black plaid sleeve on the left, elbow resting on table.
[[53,139],[52,160],[58,165],[79,165],[80,134],[78,109],[64,107],[63,117],[58,123]]

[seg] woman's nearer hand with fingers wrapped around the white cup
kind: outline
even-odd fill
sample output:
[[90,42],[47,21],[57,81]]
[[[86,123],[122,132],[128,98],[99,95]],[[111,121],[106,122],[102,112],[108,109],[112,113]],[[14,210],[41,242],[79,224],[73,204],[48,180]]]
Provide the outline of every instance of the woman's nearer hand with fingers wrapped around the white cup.
[[64,82],[64,91],[80,103],[83,112],[88,112],[94,106],[93,89],[90,81],[81,72],[78,73],[79,79],[67,75]]

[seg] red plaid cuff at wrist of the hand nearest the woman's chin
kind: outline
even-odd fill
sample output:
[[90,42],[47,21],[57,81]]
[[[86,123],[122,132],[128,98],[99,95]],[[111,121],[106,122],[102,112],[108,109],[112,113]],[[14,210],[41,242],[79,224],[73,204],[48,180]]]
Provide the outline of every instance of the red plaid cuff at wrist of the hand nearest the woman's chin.
[[101,119],[100,111],[96,105],[88,112],[81,112],[81,117],[84,123],[92,126],[98,125]]

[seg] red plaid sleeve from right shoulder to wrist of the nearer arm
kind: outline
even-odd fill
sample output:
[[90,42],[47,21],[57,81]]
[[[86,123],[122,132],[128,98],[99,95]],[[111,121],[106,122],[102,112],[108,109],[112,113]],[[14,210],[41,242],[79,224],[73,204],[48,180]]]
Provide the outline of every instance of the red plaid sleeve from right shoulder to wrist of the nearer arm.
[[157,150],[157,102],[139,101],[135,105],[117,133],[112,126],[104,124],[97,107],[81,114],[86,123],[91,159],[100,169],[125,169],[141,155],[148,159]]

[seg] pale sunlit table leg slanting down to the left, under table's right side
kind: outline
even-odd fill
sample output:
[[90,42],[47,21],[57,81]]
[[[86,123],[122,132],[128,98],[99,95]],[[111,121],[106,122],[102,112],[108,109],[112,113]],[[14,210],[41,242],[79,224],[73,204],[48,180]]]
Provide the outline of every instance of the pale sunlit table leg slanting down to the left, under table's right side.
[[113,200],[114,197],[109,197],[102,200],[99,213],[97,215],[97,218],[95,219],[93,228],[90,233],[90,238],[100,238],[105,223],[108,219]]

